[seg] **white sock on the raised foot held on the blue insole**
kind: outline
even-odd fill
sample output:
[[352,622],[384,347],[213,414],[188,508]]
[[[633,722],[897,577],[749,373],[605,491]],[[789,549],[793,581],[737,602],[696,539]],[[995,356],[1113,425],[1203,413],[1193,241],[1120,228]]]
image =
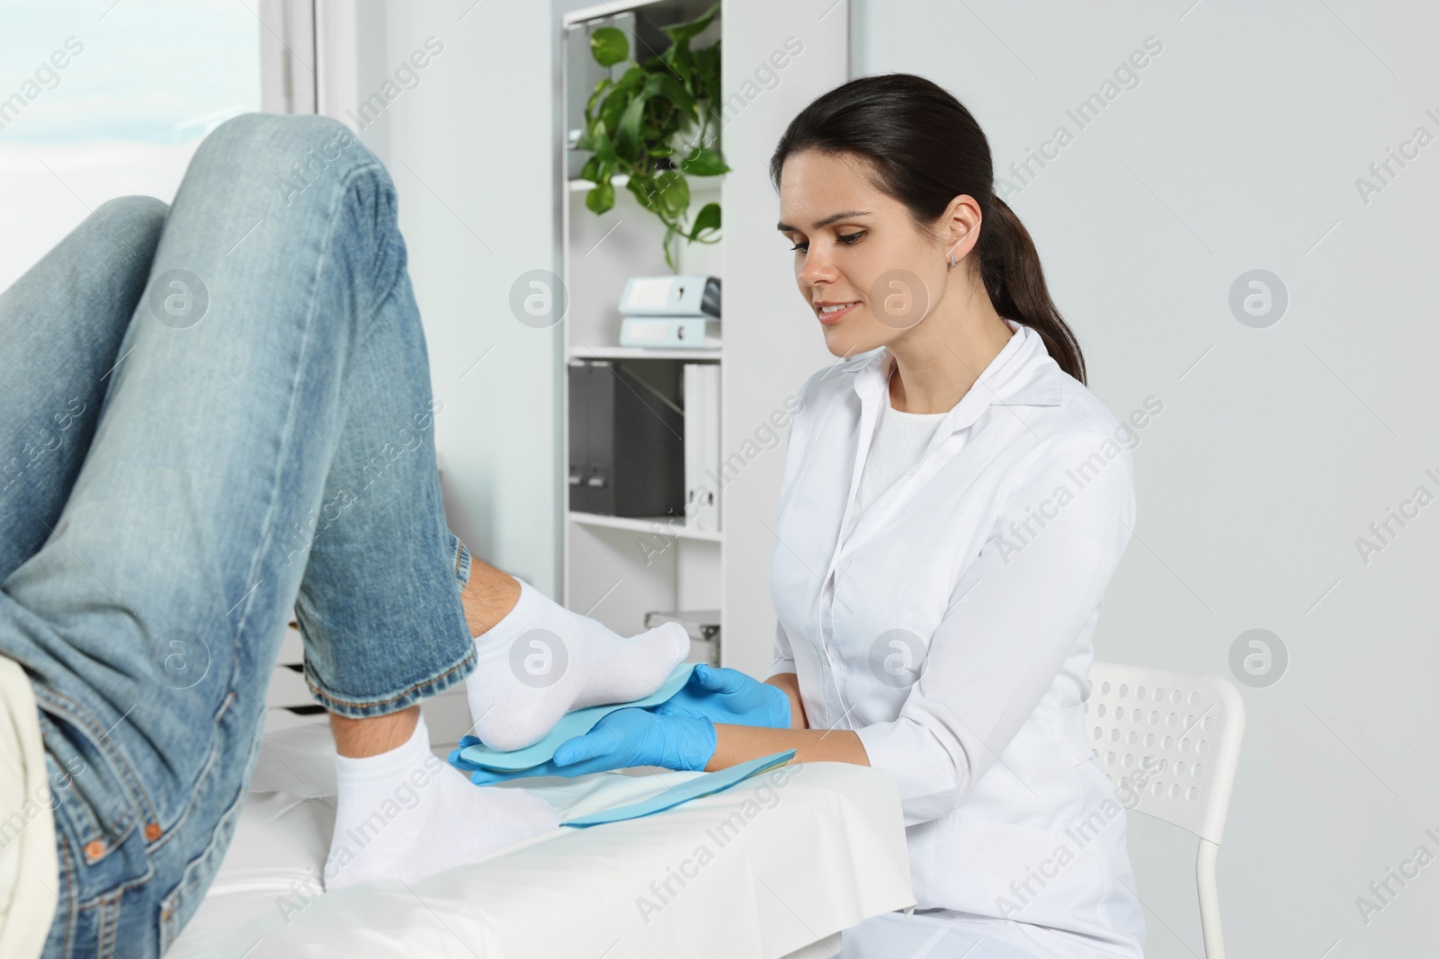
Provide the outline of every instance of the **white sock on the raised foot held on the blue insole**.
[[465,680],[475,735],[495,749],[538,742],[571,709],[649,696],[689,654],[678,623],[625,638],[519,582],[515,608],[475,637]]

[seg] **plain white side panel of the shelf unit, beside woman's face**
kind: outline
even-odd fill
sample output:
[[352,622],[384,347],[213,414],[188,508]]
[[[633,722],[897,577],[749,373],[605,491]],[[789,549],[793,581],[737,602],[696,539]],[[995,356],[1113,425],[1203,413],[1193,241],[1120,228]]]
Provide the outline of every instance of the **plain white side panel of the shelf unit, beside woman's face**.
[[[794,286],[793,256],[776,233],[778,197],[770,155],[797,112],[843,83],[846,0],[732,0],[725,6],[727,105],[724,184],[725,361],[721,460],[738,453],[743,472],[721,490],[725,531],[724,664],[768,676],[774,661],[770,552],[778,525],[784,446],[757,447],[755,431],[787,417],[786,400],[835,362]],[[774,58],[774,59],[771,59]],[[781,69],[777,65],[783,63]],[[761,85],[755,72],[770,79]],[[763,436],[767,434],[761,434]],[[750,457],[745,450],[760,451]]]

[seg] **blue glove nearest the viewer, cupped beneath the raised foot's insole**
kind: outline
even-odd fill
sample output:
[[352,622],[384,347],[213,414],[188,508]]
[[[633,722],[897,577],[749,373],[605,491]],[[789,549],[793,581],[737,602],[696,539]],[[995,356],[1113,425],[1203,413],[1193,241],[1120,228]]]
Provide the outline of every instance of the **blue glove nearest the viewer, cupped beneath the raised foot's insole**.
[[560,743],[554,759],[525,769],[519,776],[481,769],[460,759],[460,751],[476,742],[473,736],[460,739],[459,749],[450,752],[450,765],[468,772],[475,785],[486,786],[521,776],[583,776],[629,766],[704,769],[715,755],[715,728],[702,716],[659,716],[648,709],[617,709],[590,732]]

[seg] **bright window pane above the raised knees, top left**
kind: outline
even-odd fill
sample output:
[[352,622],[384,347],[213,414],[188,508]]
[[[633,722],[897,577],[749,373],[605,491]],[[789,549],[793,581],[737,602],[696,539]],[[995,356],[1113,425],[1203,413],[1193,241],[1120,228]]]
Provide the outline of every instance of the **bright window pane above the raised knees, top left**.
[[0,289],[105,200],[173,200],[204,135],[260,109],[258,13],[258,0],[6,0]]

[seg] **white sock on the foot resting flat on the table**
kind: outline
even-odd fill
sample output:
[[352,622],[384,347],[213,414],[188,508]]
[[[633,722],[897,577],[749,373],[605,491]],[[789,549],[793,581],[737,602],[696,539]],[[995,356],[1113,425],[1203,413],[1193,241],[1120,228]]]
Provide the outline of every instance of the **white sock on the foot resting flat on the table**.
[[417,881],[560,825],[540,797],[476,786],[432,753],[423,716],[404,745],[364,759],[338,756],[337,772],[327,890],[370,878]]

